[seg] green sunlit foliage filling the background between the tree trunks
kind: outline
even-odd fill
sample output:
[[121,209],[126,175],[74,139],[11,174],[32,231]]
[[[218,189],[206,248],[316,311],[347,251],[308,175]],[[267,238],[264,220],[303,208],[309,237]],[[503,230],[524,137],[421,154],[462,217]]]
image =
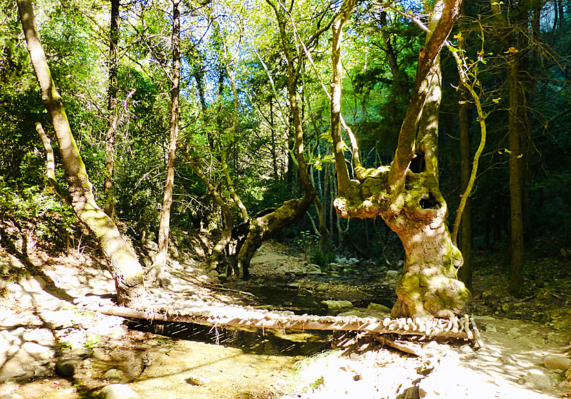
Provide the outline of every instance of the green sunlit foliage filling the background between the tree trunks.
[[[305,159],[325,208],[332,247],[360,257],[396,263],[398,240],[380,220],[339,219],[330,100],[321,87],[331,80],[331,32],[314,32],[330,21],[341,1],[288,1],[288,45],[299,69],[297,98],[305,132]],[[33,220],[46,242],[61,233],[80,237],[81,227],[45,177],[45,151],[34,124],[50,131],[21,33],[16,2],[0,6],[0,214],[3,220]],[[38,0],[34,3],[52,76],[100,206],[105,206],[105,133],[109,120],[109,2]],[[499,10],[499,11],[498,11]],[[570,248],[571,21],[562,0],[486,2],[466,0],[462,16],[442,50],[440,190],[451,220],[463,192],[460,108],[467,107],[473,156],[480,125],[471,96],[463,93],[455,52],[468,65],[482,102],[488,131],[477,180],[470,195],[473,245],[505,250],[510,261],[510,171],[524,160],[521,186],[526,250]],[[503,16],[503,18],[501,18]],[[343,117],[356,134],[365,167],[389,164],[405,117],[427,22],[420,2],[358,1],[345,24]],[[118,41],[118,129],[114,154],[116,218],[135,240],[155,240],[169,151],[172,4],[164,0],[122,1]],[[171,235],[224,228],[224,217],[204,181],[182,151],[198,160],[206,178],[226,199],[237,222],[235,191],[250,215],[299,198],[294,131],[288,102],[288,62],[277,21],[262,0],[182,2],[180,120]],[[301,52],[310,43],[311,65]],[[508,66],[517,58],[517,72]],[[515,81],[514,81],[515,78]],[[518,87],[519,103],[510,102]],[[511,93],[511,94],[510,94]],[[511,96],[511,97],[510,97]],[[517,109],[516,109],[517,108]],[[519,123],[521,154],[510,151],[510,114]],[[348,140],[347,140],[348,142]],[[56,164],[61,164],[56,151]],[[345,152],[347,162],[350,153]],[[224,173],[226,164],[230,180]],[[353,173],[352,170],[349,173]],[[56,169],[63,184],[63,171]],[[231,185],[229,184],[231,182]],[[319,235],[315,208],[283,237]],[[5,236],[5,235],[3,235]],[[306,239],[306,237],[308,237]],[[462,237],[460,237],[462,240]],[[191,248],[190,248],[191,249]],[[385,265],[386,266],[386,265]]]

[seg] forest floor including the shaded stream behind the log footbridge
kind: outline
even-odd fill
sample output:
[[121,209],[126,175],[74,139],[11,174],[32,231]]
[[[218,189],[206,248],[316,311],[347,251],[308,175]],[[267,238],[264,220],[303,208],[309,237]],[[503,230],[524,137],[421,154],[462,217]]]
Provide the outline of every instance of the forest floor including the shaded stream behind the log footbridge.
[[[411,343],[415,356],[367,337],[331,349],[339,339],[326,332],[126,323],[78,305],[77,299],[114,292],[97,257],[11,252],[0,247],[0,398],[94,398],[114,382],[141,398],[164,399],[539,399],[571,392],[571,373],[565,382],[563,370],[571,363],[570,281],[557,274],[564,267],[543,279],[528,276],[524,296],[513,298],[502,270],[491,270],[493,259],[479,258],[471,312],[486,345]],[[382,317],[398,277],[398,270],[352,258],[320,268],[268,242],[252,259],[250,281],[221,282],[178,255],[169,262],[170,290],[301,314]],[[562,252],[543,261],[569,259]],[[66,362],[72,376],[62,377]]]

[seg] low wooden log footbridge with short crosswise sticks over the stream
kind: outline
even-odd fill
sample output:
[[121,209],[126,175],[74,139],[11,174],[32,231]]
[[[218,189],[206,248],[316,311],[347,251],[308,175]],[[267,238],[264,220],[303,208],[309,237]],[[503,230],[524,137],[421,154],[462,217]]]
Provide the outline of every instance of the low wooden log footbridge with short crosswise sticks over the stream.
[[[79,301],[81,302],[81,301]],[[84,303],[90,310],[135,319],[197,323],[215,327],[257,327],[274,330],[335,330],[361,331],[378,334],[419,335],[429,337],[464,338],[482,347],[482,338],[471,316],[465,314],[454,319],[411,319],[389,317],[381,320],[358,316],[297,315],[290,311],[268,311],[250,306],[228,305],[200,299],[178,303],[176,308],[157,306],[147,298],[148,306],[138,309],[124,308],[109,303]]]

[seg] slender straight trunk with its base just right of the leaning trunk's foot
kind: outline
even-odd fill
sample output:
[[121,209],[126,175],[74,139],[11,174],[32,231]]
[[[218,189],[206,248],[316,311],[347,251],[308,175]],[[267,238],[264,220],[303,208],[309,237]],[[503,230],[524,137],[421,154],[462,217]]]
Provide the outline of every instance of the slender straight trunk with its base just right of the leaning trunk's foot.
[[153,263],[155,283],[163,285],[164,267],[169,251],[169,230],[171,224],[171,206],[173,204],[173,184],[175,180],[175,159],[178,138],[178,114],[180,94],[180,0],[173,0],[173,78],[171,87],[171,120],[169,138],[169,164],[166,166],[166,184],[160,213],[158,253]]

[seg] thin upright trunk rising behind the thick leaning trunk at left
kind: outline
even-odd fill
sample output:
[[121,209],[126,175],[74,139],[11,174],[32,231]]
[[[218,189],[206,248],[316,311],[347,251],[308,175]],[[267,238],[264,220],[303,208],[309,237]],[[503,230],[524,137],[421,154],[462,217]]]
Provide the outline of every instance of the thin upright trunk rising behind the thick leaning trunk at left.
[[119,0],[111,0],[111,28],[109,32],[109,89],[107,91],[109,120],[105,135],[105,213],[115,218],[115,193],[113,189],[113,168],[115,162],[115,140],[119,108],[117,106],[117,53],[119,45]]

